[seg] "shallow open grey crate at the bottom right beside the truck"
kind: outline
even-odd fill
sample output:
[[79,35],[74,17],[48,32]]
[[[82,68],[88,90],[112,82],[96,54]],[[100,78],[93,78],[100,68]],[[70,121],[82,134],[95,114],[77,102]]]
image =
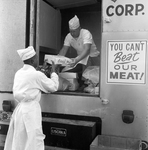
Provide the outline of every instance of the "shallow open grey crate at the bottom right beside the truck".
[[90,150],[139,150],[140,139],[98,135],[90,145]]

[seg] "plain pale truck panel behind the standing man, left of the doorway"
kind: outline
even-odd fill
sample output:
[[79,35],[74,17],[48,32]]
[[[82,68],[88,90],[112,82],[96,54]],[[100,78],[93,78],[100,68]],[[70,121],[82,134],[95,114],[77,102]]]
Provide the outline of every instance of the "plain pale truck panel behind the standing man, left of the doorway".
[[0,92],[12,91],[22,66],[16,50],[25,48],[26,0],[0,0]]

